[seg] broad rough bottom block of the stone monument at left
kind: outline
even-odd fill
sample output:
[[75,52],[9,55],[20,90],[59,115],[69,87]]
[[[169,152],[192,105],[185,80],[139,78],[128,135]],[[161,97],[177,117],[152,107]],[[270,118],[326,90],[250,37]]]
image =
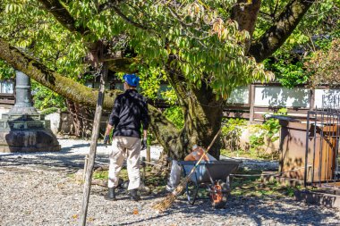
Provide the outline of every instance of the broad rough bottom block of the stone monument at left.
[[0,152],[54,152],[60,149],[51,130],[0,130]]

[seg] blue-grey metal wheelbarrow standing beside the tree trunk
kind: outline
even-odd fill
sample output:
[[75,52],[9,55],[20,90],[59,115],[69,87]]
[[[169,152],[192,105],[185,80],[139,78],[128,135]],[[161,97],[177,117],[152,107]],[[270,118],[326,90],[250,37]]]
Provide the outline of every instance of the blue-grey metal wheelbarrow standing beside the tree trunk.
[[[178,162],[183,169],[183,176],[187,176],[196,161]],[[222,160],[201,162],[196,171],[191,175],[185,189],[188,202],[194,205],[198,198],[199,189],[208,191],[208,198],[215,208],[225,207],[227,197],[231,191],[230,174],[235,172],[242,161]]]

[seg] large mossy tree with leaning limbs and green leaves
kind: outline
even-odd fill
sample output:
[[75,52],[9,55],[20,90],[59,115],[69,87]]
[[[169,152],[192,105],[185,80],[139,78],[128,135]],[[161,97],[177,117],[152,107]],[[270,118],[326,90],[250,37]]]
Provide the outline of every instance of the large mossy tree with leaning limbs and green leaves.
[[[260,21],[258,29],[260,0],[3,0],[0,59],[89,106],[98,91],[74,79],[100,67],[89,62],[138,71],[146,89],[166,78],[185,123],[177,129],[150,105],[151,129],[166,153],[180,158],[192,144],[208,146],[221,127],[227,96],[266,78],[260,62],[285,43],[313,3],[266,1],[272,20]],[[106,92],[106,109],[117,93]],[[211,153],[218,156],[219,147]]]

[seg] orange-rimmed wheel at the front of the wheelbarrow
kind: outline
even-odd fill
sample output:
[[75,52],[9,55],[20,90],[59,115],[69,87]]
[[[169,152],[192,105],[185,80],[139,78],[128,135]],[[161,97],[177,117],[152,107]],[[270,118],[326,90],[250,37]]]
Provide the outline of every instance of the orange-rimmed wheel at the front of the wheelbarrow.
[[210,188],[209,197],[211,205],[217,209],[224,208],[229,194],[230,190],[227,188],[225,181],[215,181],[215,184]]

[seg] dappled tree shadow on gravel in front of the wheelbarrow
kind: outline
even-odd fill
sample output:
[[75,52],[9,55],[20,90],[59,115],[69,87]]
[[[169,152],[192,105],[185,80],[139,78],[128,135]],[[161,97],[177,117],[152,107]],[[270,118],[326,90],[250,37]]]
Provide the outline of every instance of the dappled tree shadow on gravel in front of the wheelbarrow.
[[[209,216],[220,216],[221,221],[237,216],[240,219],[248,219],[246,222],[255,222],[257,225],[276,224],[277,222],[293,225],[321,225],[327,218],[336,219],[334,210],[325,210],[318,205],[305,205],[291,199],[271,199],[258,197],[232,197],[228,200],[225,209],[214,209],[208,201],[200,201],[196,205],[185,202],[175,204],[166,213],[186,213],[196,219],[209,219]],[[162,216],[159,216],[160,218]],[[340,222],[340,219],[338,219]],[[131,222],[133,223],[133,222]],[[233,222],[229,222],[232,223]],[[234,222],[238,224],[238,222]],[[332,224],[330,224],[332,225]]]

